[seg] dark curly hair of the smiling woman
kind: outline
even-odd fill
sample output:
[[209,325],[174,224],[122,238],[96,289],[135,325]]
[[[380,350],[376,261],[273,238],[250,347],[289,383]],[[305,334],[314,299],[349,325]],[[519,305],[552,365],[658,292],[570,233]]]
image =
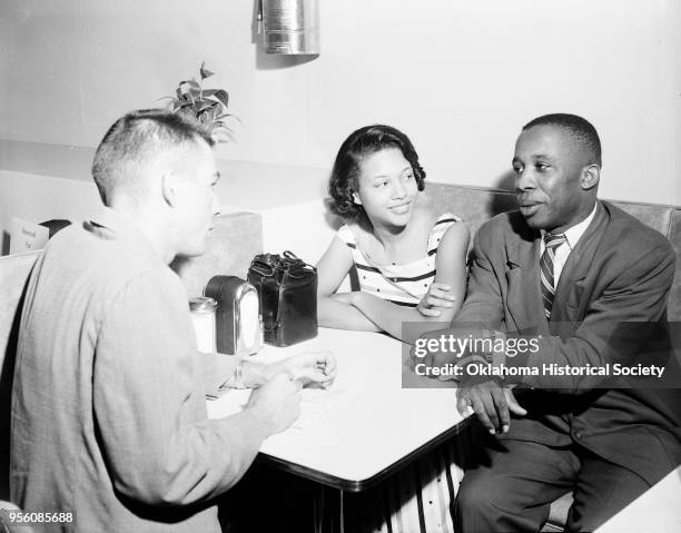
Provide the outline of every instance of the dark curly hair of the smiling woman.
[[425,170],[418,162],[418,155],[409,138],[396,128],[384,125],[373,125],[353,131],[340,145],[334,169],[328,181],[330,196],[329,207],[343,218],[352,219],[364,214],[362,206],[353,201],[353,193],[357,191],[357,177],[363,159],[385,148],[398,148],[414,170],[418,190],[425,187]]

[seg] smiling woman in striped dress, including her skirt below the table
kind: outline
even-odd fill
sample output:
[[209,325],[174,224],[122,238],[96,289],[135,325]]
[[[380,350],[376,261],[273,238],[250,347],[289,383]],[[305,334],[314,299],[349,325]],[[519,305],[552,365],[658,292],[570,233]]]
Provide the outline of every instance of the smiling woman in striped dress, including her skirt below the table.
[[[424,178],[412,142],[395,128],[367,126],[343,142],[328,189],[346,224],[317,265],[320,326],[409,343],[415,333],[405,335],[403,323],[427,330],[452,320],[465,295],[470,234],[456,216],[426,207]],[[348,273],[359,290],[338,293]],[[453,532],[463,475],[453,454],[445,444],[373,491],[377,504],[361,531]]]

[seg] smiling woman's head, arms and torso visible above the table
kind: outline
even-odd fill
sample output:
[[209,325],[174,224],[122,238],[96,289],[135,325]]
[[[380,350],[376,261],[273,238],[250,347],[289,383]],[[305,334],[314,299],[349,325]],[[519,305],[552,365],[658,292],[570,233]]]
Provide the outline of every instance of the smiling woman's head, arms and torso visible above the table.
[[[403,323],[452,320],[465,295],[470,234],[456,216],[425,206],[424,179],[395,128],[367,126],[343,142],[328,190],[346,224],[317,265],[320,326],[413,342]],[[337,293],[353,270],[359,290]]]

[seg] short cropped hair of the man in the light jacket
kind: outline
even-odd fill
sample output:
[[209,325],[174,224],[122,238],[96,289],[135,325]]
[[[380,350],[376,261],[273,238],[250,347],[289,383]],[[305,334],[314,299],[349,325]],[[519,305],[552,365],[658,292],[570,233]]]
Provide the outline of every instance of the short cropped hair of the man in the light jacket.
[[125,115],[109,128],[95,154],[92,177],[101,200],[110,205],[117,190],[140,194],[147,164],[164,152],[180,155],[201,140],[214,145],[206,130],[179,113],[142,109]]

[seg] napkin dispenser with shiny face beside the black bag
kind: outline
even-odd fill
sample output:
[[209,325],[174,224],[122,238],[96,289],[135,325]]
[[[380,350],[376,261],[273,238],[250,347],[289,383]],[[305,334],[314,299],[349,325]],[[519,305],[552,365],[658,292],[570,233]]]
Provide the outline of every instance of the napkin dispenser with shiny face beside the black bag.
[[247,356],[263,347],[263,320],[256,288],[237,276],[214,276],[204,296],[218,303],[217,351]]

